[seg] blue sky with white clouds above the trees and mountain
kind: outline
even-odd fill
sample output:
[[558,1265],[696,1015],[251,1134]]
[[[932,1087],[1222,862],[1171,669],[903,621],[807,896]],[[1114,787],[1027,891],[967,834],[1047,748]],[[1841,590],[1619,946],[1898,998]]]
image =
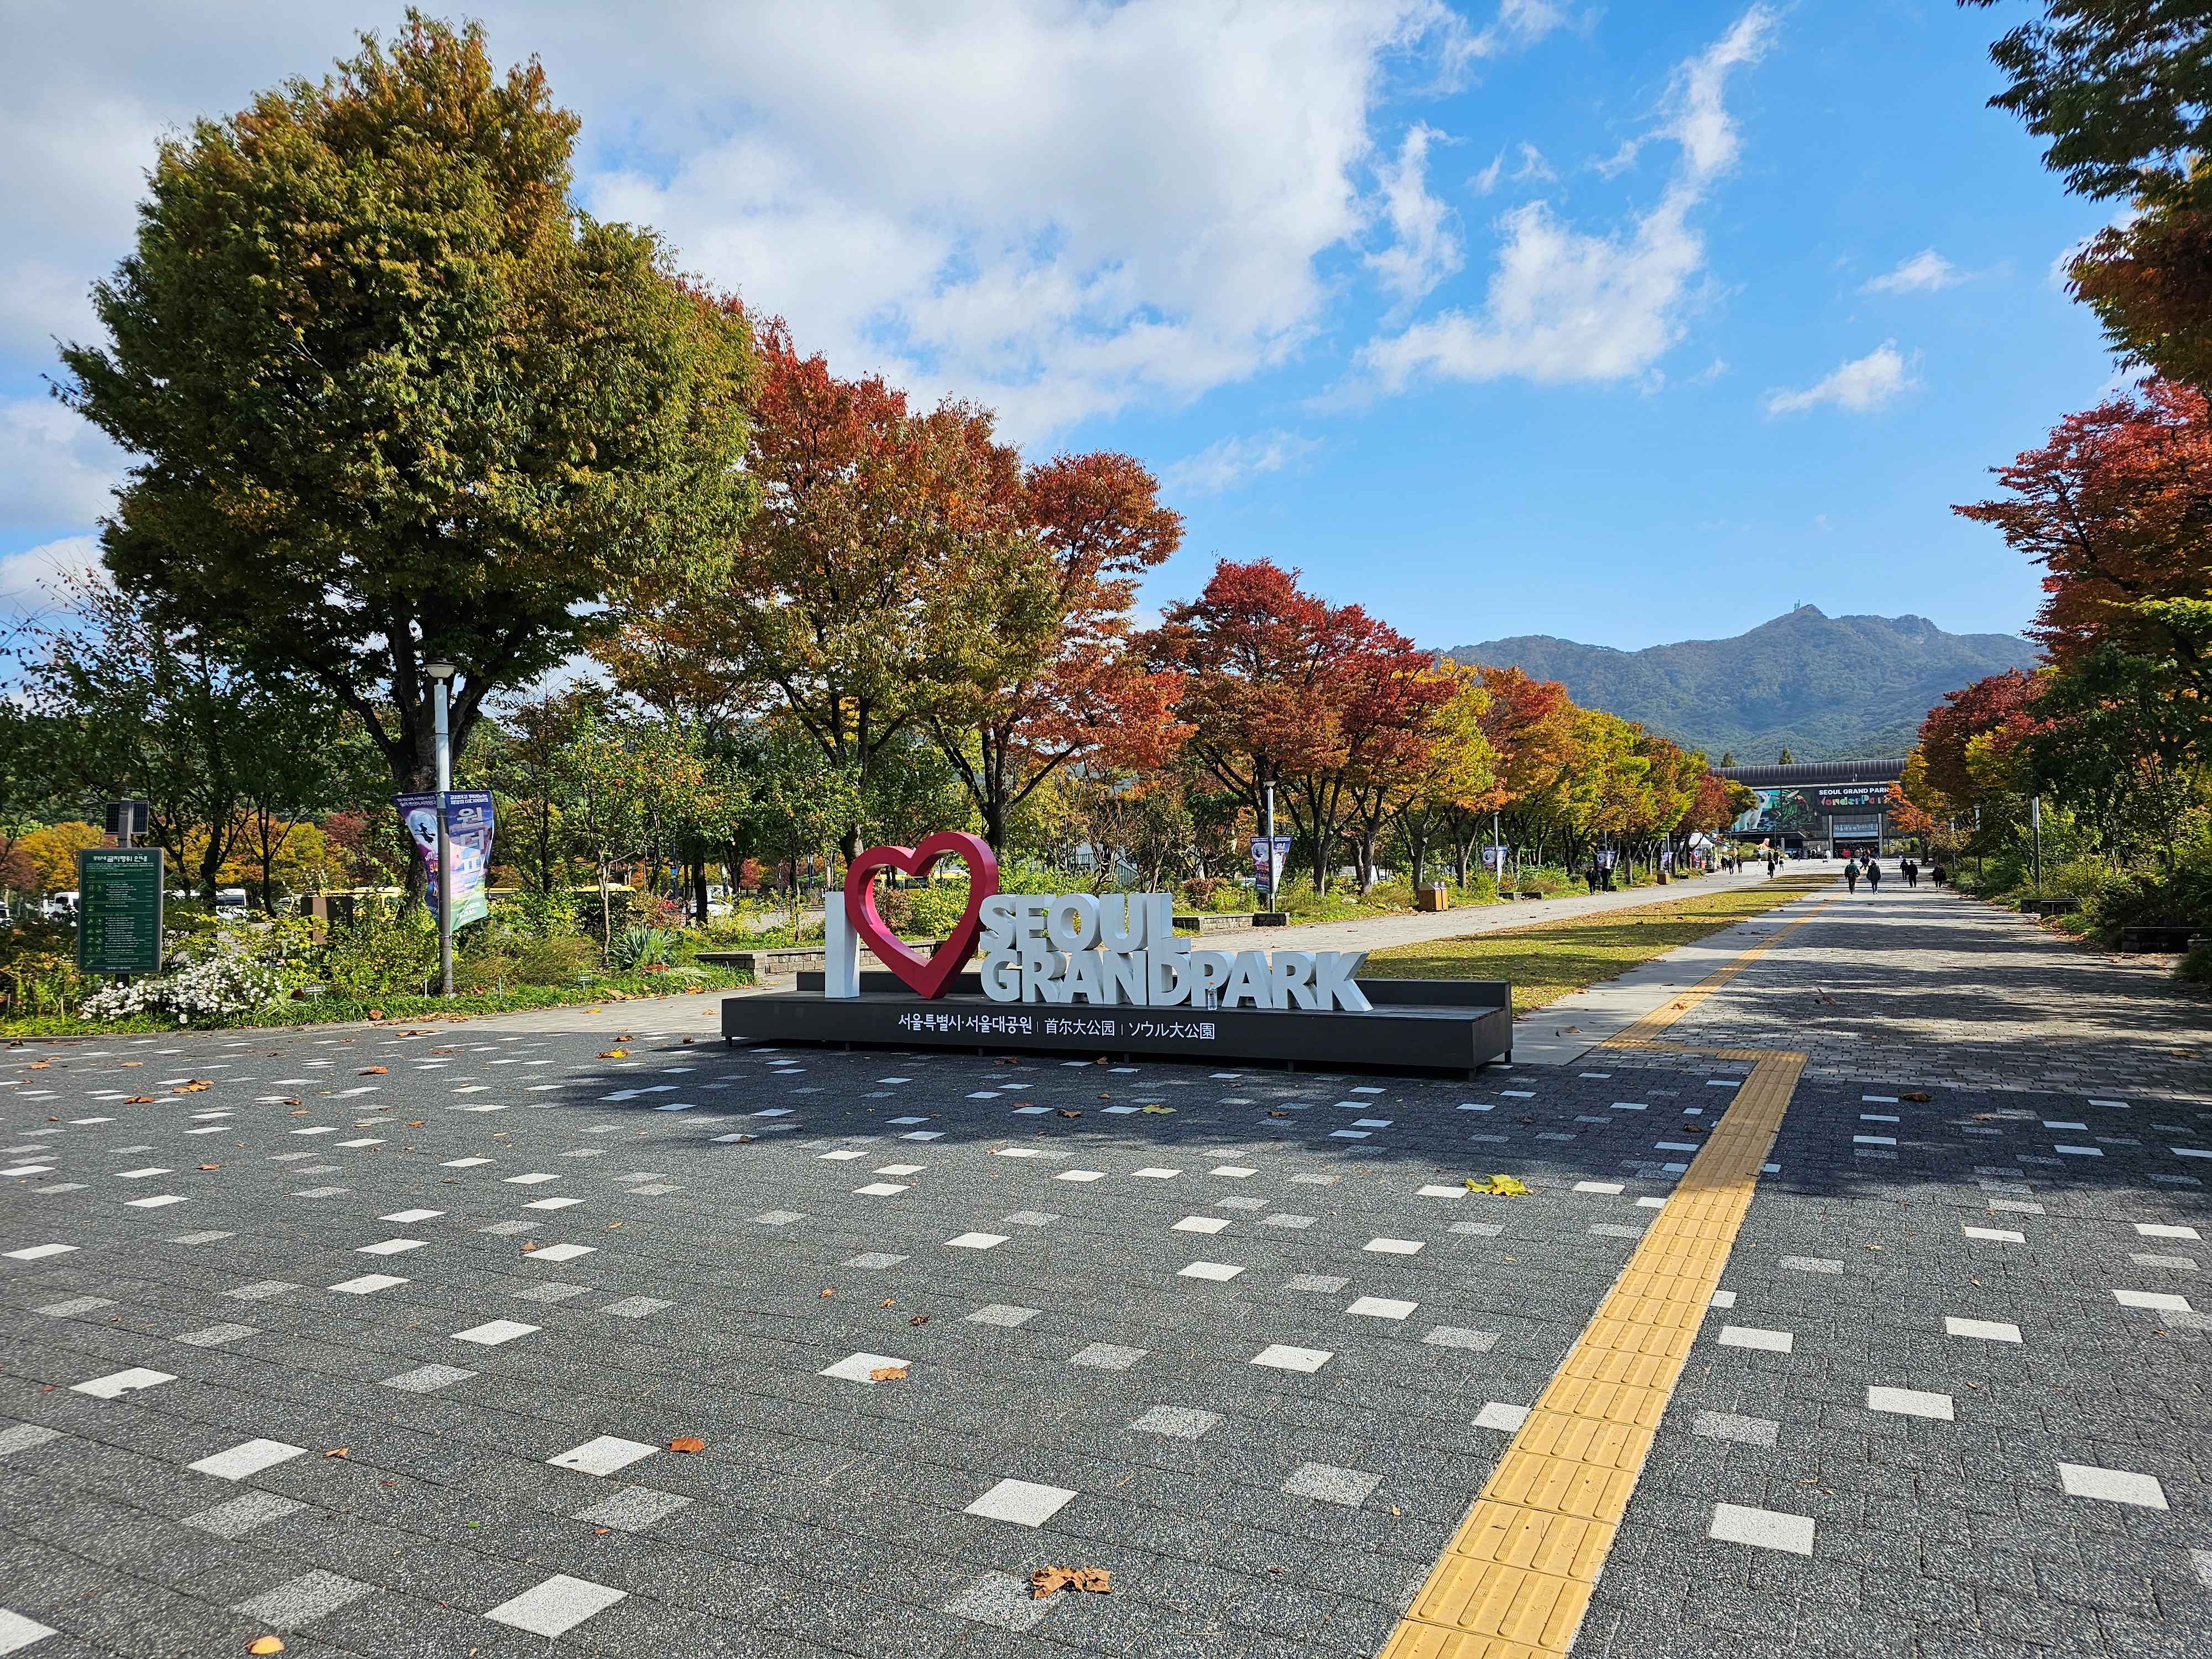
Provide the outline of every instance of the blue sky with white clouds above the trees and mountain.
[[[100,15],[95,15],[95,11]],[[135,20],[131,13],[139,11]],[[1984,108],[1951,0],[487,4],[577,195],[845,372],[1128,449],[1214,557],[1429,646],[1637,648],[1792,604],[2017,630],[1951,502],[2112,385],[2053,261],[2104,212]],[[33,2],[0,69],[0,588],[117,458],[40,396],[155,135],[398,7]]]

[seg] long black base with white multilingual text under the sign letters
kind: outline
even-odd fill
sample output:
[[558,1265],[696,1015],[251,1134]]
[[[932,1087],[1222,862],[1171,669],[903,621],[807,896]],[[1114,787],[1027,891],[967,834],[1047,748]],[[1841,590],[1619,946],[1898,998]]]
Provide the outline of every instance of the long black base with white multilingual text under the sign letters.
[[858,998],[825,998],[818,973],[799,984],[726,998],[723,1040],[1455,1075],[1513,1060],[1513,989],[1500,980],[1360,980],[1374,1013],[991,1002],[973,975],[933,1002],[889,973],[860,975]]

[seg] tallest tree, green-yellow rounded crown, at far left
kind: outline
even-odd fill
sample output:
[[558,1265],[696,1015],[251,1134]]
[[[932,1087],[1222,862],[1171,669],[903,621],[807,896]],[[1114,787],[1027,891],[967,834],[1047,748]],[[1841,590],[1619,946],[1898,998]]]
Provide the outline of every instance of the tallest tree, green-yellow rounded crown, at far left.
[[489,692],[710,580],[752,502],[734,305],[568,204],[577,119],[535,62],[409,13],[161,146],[104,345],[62,396],[135,456],[115,580],[263,672],[314,681],[434,779],[422,664]]

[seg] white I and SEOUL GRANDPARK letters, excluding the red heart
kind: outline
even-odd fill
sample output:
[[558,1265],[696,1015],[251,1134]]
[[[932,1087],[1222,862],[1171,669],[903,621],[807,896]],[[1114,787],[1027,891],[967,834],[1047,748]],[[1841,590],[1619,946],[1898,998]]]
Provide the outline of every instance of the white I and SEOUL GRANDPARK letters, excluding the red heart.
[[[830,905],[830,995],[858,991],[843,909]],[[1199,951],[1177,938],[1168,894],[991,894],[978,920],[993,1002],[1371,1011],[1354,982],[1367,951]]]

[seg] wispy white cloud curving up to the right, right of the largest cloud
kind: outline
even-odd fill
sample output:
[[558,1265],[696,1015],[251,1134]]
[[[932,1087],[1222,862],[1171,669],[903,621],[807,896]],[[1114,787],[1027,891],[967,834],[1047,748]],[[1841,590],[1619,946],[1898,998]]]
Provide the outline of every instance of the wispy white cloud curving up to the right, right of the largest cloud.
[[1449,310],[1369,341],[1360,374],[1398,392],[1418,378],[1626,380],[1655,372],[1697,301],[1705,241],[1690,215],[1739,153],[1721,93],[1756,62],[1774,13],[1754,4],[1712,46],[1674,71],[1661,135],[1681,164],[1659,201],[1615,232],[1564,223],[1546,201],[1500,221],[1504,246],[1480,312]]

